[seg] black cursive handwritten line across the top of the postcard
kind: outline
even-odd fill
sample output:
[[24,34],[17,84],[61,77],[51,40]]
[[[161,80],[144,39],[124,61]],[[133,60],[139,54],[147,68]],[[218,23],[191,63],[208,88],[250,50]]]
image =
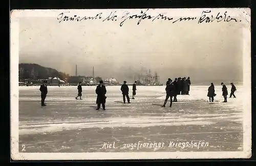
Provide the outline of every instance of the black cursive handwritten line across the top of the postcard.
[[[84,20],[97,20],[97,19],[102,20],[102,22],[104,22],[104,21],[117,21],[118,19],[120,19],[119,26],[123,26],[125,21],[133,20],[133,19],[137,20],[137,25],[139,25],[142,20],[151,20],[151,21],[163,20],[163,21],[170,21],[171,23],[197,20],[197,17],[180,17],[177,19],[177,17],[176,18],[169,17],[169,16],[166,16],[161,13],[159,13],[157,15],[150,15],[150,14],[147,14],[148,10],[149,9],[146,9],[144,11],[141,10],[140,14],[131,14],[129,11],[124,11],[123,15],[120,18],[118,18],[117,11],[112,11],[105,18],[103,18],[102,12],[95,14],[93,16],[77,16],[77,15],[69,16],[67,14],[69,14],[70,12],[67,12],[67,13],[60,13],[57,16],[57,20],[58,20],[58,23],[61,23],[61,22],[65,22],[65,21],[66,22],[67,21],[80,22],[80,21],[84,21]],[[227,14],[227,11],[224,12],[223,14],[221,14],[219,12],[217,15],[214,15],[211,13],[210,10],[205,10],[202,12],[201,16],[198,18],[197,23],[201,24],[201,23],[221,22],[221,21],[223,21],[223,22],[229,22],[229,21],[238,22],[238,20],[236,18],[232,18],[231,16],[229,16]]]

